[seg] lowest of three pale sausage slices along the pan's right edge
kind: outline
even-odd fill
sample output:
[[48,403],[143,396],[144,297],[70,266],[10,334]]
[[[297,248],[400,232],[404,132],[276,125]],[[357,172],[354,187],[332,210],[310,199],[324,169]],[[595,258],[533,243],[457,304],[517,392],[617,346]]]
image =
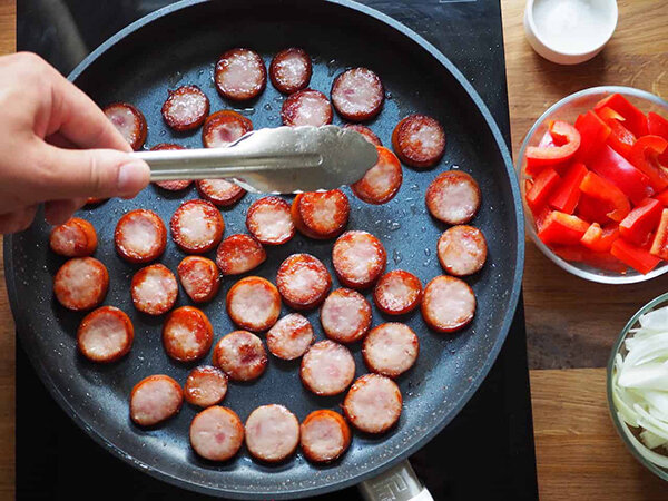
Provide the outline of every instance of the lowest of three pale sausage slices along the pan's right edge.
[[422,296],[422,317],[439,332],[465,327],[475,314],[475,294],[464,281],[441,275],[426,284]]

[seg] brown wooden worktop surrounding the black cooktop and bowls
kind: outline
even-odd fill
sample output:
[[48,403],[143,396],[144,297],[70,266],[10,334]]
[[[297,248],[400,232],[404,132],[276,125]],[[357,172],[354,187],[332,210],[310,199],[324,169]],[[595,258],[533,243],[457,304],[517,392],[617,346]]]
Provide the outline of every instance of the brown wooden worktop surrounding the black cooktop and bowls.
[[[533,53],[523,36],[523,0],[502,0],[515,153],[536,118],[576,90],[617,84],[668,98],[668,2],[620,0],[613,39],[601,55],[577,67],[552,65]],[[0,0],[0,53],[14,51],[14,0]],[[668,485],[644,470],[617,438],[600,369],[628,317],[666,288],[666,278],[625,287],[589,284],[528,243],[524,305],[543,501],[668,500]],[[13,322],[0,269],[0,499],[12,499],[14,492],[13,354]]]

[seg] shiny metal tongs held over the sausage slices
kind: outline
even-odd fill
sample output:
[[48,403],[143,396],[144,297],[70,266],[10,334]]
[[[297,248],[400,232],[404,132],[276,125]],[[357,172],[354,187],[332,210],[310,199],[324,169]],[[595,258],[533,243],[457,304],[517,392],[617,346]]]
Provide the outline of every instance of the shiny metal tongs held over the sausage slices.
[[150,180],[225,178],[255,193],[334,189],[360,180],[377,161],[375,146],[337,126],[254,130],[228,147],[136,151]]

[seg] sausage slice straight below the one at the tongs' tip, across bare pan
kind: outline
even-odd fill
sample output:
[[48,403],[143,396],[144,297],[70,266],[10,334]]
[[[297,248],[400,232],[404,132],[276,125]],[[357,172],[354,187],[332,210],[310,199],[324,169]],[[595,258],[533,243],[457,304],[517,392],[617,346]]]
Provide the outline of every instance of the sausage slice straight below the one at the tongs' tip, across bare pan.
[[371,286],[383,274],[386,264],[385,247],[371,233],[346,232],[334,243],[332,265],[346,287]]

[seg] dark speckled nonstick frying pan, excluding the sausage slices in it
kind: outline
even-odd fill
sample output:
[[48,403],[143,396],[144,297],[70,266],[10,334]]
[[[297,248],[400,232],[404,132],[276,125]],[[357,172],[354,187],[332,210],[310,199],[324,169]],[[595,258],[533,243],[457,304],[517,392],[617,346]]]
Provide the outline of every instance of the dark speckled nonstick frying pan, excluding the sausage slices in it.
[[[267,63],[282,48],[305,48],[314,58],[311,87],[326,94],[333,77],[348,67],[375,70],[387,99],[381,115],[369,125],[386,145],[395,124],[411,112],[432,115],[444,125],[448,148],[443,160],[426,171],[404,168],[402,188],[389,204],[365,205],[345,188],[352,204],[348,228],[379,236],[387,249],[389,269],[406,268],[423,283],[441,274],[435,243],[444,226],[426,213],[424,190],[438,173],[450,168],[471,173],[480,184],[483,204],[473,224],[487,236],[489,258],[482,272],[468,278],[478,297],[475,318],[454,335],[430,331],[420,313],[399,318],[421,342],[418,364],[397,381],[404,396],[399,424],[382,436],[355,432],[347,453],[328,465],[311,464],[301,454],[278,465],[266,465],[252,460],[245,450],[223,464],[199,459],[188,444],[188,426],[197,412],[188,405],[157,429],[132,425],[128,416],[132,385],[155,373],[183,382],[194,364],[169,360],[160,343],[161,318],[134,310],[129,282],[138,266],[116,255],[114,227],[121,214],[138,207],[151,208],[168,222],[184,199],[197,197],[194,188],[167,194],[149,187],[132,200],[111,199],[79,212],[97,228],[100,244],[96,257],[109,269],[105,304],[122,308],[135,324],[135,344],[122,361],[97,365],[78,355],[75,333],[82,314],[66,311],[52,297],[52,275],[63,259],[49,252],[50,228],[41,218],[28,230],[4,239],[7,284],[19,336],[36,371],[62,409],[111,453],[156,478],[203,493],[240,499],[315,495],[372,478],[399,463],[439,433],[479,387],[503,344],[520,292],[524,234],[520,194],[503,139],[458,69],[411,30],[355,2],[179,2],[114,36],[69,78],[101,106],[116,100],[138,106],[148,121],[148,147],[163,141],[198,147],[199,131],[175,134],[163,124],[160,106],[167,89],[196,84],[212,100],[212,110],[236,108],[256,128],[281,124],[283,97],[271,85],[257,100],[242,107],[216,94],[212,75],[217,57],[227,48],[244,46],[257,50]],[[334,122],[341,124],[341,119],[335,117]],[[257,198],[247,195],[235,208],[224,210],[227,235],[245,230],[245,212]],[[298,252],[315,255],[333,272],[331,248],[332,242],[298,235],[284,246],[269,248],[268,259],[252,274],[273,281],[278,264]],[[175,269],[181,258],[168,242],[159,261]],[[215,341],[234,330],[223,301],[233,283],[226,279],[218,297],[203,306],[214,325]],[[336,281],[334,286],[338,286]],[[178,305],[188,303],[181,291]],[[285,306],[283,313],[287,313]],[[323,338],[317,311],[307,316],[317,338]],[[392,320],[374,310],[374,325]],[[358,376],[365,372],[361,346],[353,345],[352,351]],[[302,420],[315,409],[337,409],[341,402],[341,396],[318,397],[305,391],[298,379],[298,362],[272,357],[258,381],[230,384],[224,405],[245,420],[257,405],[278,403]]]

